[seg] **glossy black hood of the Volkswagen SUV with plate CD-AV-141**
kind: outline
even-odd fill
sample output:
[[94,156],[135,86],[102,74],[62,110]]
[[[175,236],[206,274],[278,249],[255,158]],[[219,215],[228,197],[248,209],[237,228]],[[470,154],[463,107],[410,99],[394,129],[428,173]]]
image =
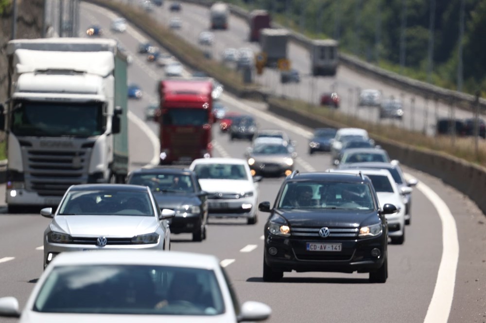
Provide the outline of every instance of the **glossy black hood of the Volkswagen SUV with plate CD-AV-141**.
[[355,228],[362,223],[378,222],[375,210],[288,210],[278,212],[290,227],[339,226]]

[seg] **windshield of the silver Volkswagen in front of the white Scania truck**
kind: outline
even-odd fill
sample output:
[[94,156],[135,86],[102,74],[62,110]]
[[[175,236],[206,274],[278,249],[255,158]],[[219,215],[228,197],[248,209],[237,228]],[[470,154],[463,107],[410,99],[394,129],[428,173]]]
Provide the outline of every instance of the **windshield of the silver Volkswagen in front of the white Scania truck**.
[[147,192],[90,190],[70,191],[58,215],[138,215],[154,216]]

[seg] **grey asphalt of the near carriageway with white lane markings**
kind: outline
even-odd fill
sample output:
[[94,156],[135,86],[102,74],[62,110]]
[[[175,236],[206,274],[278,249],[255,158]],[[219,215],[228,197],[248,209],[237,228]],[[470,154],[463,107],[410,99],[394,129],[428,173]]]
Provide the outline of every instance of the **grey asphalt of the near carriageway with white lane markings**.
[[[136,54],[138,42],[148,38],[132,27],[125,33],[112,35],[108,30],[112,13],[88,4],[82,4],[81,10],[80,34],[88,25],[98,23],[107,36],[118,39],[134,57],[129,81],[142,87],[144,97],[129,103],[130,168],[150,164],[157,160],[158,126],[143,121],[144,108],[156,100],[156,82],[163,78],[163,72],[147,63],[144,55]],[[253,114],[261,129],[288,131],[297,142],[297,169],[315,171],[331,167],[328,154],[307,154],[312,129],[267,113],[262,103],[227,94],[222,102],[230,111]],[[213,136],[215,157],[243,157],[248,142],[230,142],[217,127]],[[279,283],[264,283],[261,279],[264,213],[260,213],[254,226],[243,220],[211,219],[206,241],[191,242],[190,235],[173,235],[172,249],[220,258],[241,301],[261,301],[272,307],[268,322],[447,322],[448,318],[449,322],[486,321],[484,214],[440,179],[404,169],[420,183],[413,193],[413,221],[406,227],[405,243],[389,245],[389,278],[385,284],[369,284],[365,274],[330,273],[286,273]],[[273,202],[281,182],[281,178],[260,182],[259,201]],[[4,187],[0,194],[4,194]],[[6,214],[4,205],[1,210],[0,296],[16,296],[23,306],[42,272],[39,247],[49,219],[41,217],[38,210]],[[455,235],[458,249],[453,245]],[[455,262],[454,257],[459,261]]]

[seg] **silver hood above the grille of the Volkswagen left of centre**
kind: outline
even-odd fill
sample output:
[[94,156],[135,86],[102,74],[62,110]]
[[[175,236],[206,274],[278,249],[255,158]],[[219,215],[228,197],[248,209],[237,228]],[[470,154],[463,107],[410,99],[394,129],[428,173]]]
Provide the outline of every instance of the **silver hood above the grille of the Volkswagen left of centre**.
[[129,215],[56,215],[52,231],[71,236],[133,237],[155,232],[159,222],[155,216]]

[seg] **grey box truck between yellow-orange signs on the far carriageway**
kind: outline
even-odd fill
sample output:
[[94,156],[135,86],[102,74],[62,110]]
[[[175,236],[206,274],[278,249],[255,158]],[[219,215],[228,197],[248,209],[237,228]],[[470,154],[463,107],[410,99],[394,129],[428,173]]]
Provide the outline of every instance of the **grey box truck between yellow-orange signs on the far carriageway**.
[[266,54],[266,65],[277,66],[279,59],[287,58],[289,32],[286,29],[264,28],[260,31],[260,51]]

